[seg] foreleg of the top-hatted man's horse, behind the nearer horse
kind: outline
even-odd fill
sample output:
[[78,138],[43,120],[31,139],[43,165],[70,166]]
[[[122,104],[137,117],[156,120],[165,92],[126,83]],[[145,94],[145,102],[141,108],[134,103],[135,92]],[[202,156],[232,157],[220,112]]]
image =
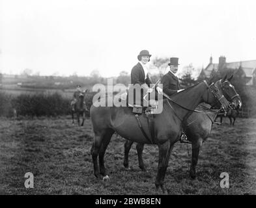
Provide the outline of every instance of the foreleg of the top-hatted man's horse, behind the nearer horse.
[[192,141],[193,141],[192,142],[192,163],[190,166],[190,177],[192,177],[192,179],[195,179],[195,177],[196,177],[195,166],[197,166],[199,151],[203,144],[203,140],[201,138],[198,138],[198,139],[192,140]]

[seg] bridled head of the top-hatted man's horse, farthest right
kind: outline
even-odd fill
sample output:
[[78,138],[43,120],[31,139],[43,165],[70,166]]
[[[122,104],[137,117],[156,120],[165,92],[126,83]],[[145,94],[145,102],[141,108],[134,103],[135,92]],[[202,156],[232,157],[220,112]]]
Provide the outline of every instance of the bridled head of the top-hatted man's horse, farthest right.
[[231,107],[234,110],[242,107],[242,100],[239,94],[236,92],[235,87],[229,82],[233,78],[233,75],[227,79],[227,75],[223,79],[216,82],[216,86],[220,88],[223,96],[231,103]]

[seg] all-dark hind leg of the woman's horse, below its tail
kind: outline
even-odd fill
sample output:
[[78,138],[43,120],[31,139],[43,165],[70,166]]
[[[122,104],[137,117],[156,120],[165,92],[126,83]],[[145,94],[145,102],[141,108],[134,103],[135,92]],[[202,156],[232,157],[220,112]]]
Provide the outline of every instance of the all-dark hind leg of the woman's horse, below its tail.
[[98,178],[100,178],[100,172],[98,168],[98,151],[100,149],[100,146],[102,146],[102,139],[104,137],[104,133],[94,133],[94,142],[92,144],[91,148],[91,155],[92,155],[92,162],[93,162],[93,168],[94,168],[94,175]]

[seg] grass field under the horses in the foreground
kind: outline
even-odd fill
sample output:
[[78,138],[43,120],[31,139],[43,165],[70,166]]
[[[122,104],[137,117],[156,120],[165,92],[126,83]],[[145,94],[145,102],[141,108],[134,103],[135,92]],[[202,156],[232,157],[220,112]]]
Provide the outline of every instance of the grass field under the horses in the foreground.
[[[256,119],[224,120],[214,125],[203,144],[197,179],[188,175],[191,147],[175,144],[165,184],[169,194],[256,194]],[[124,140],[117,135],[106,151],[110,181],[93,175],[91,121],[71,125],[70,116],[34,120],[0,119],[0,194],[156,194],[157,146],[146,145],[148,172],[138,167],[135,146],[130,168],[123,162]],[[187,149],[188,148],[188,149]],[[189,155],[188,155],[189,150]],[[25,188],[25,173],[34,174],[34,188]],[[229,174],[230,188],[220,188],[220,174]]]

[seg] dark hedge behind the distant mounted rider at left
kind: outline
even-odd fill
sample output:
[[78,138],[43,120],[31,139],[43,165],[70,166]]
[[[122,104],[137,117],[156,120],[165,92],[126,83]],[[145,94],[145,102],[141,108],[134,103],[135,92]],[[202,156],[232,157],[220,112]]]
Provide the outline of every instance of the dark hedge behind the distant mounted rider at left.
[[[85,103],[87,109],[92,105],[93,93],[87,93]],[[70,99],[64,98],[61,94],[20,94],[13,96],[0,92],[0,116],[14,116],[16,109],[17,116],[59,116],[70,114]],[[89,116],[89,112],[87,112]]]

